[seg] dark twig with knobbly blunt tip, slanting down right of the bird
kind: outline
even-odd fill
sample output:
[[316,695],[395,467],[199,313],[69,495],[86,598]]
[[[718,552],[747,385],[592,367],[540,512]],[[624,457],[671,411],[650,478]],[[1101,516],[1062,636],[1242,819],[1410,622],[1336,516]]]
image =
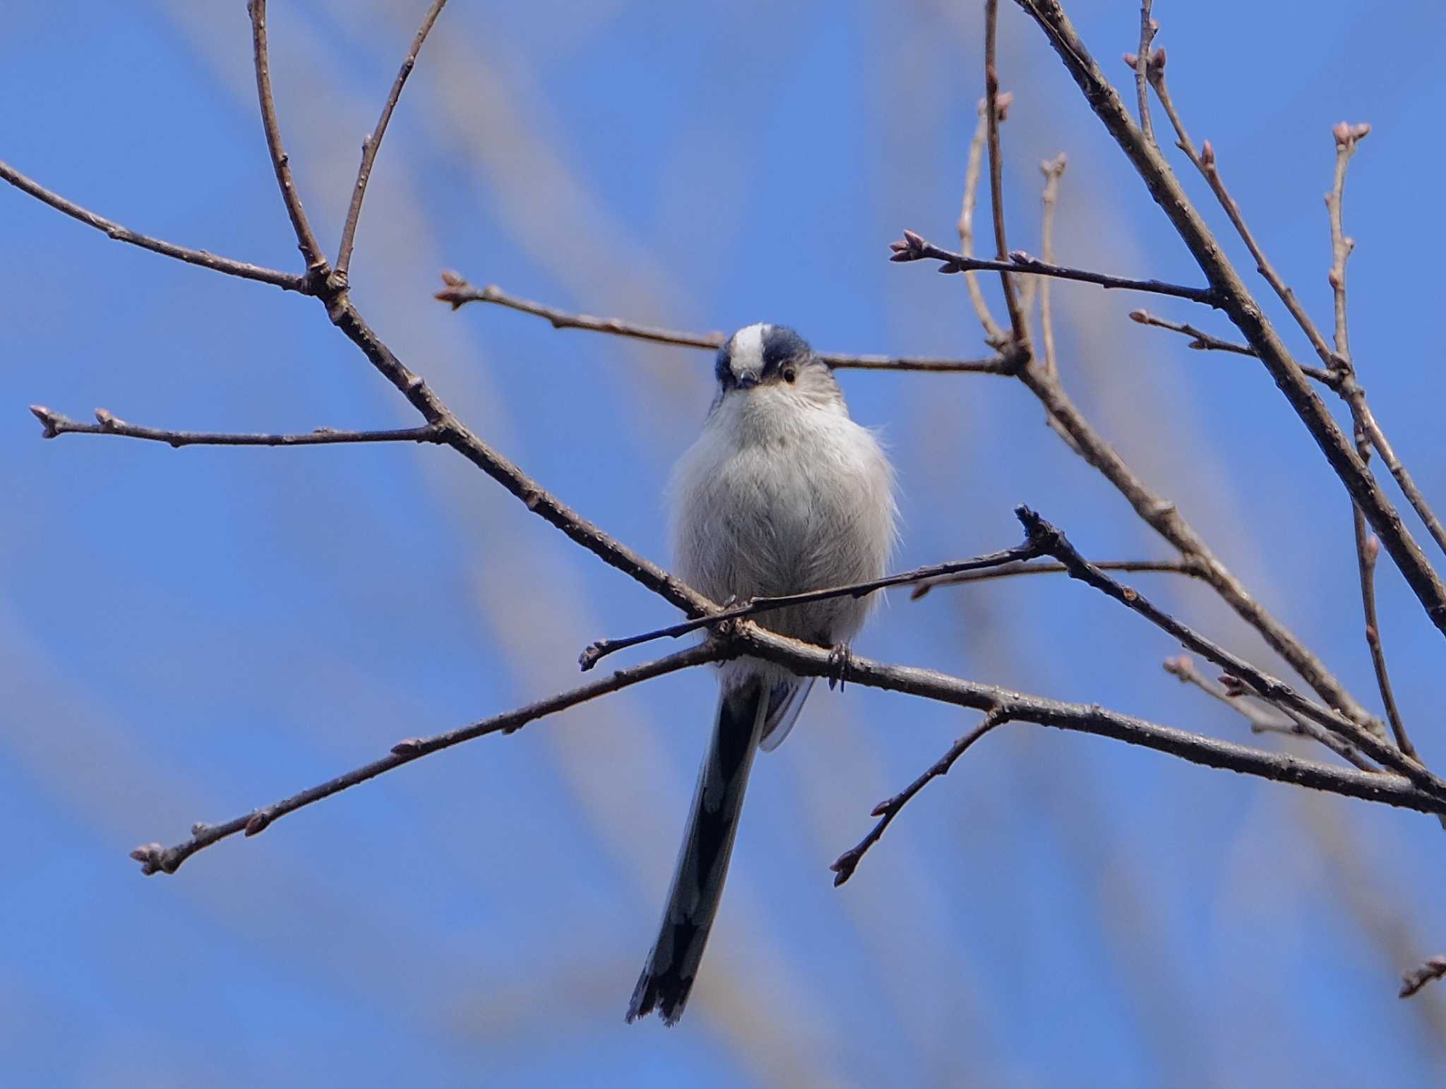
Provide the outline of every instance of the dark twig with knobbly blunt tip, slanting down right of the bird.
[[1150,623],[1160,628],[1163,632],[1168,633],[1177,639],[1187,649],[1194,651],[1202,658],[1219,665],[1231,677],[1235,677],[1241,684],[1257,696],[1259,696],[1267,703],[1275,704],[1285,712],[1300,714],[1306,719],[1320,723],[1326,729],[1332,730],[1338,736],[1342,736],[1352,742],[1356,748],[1365,752],[1371,759],[1382,766],[1398,771],[1400,774],[1410,778],[1413,782],[1420,785],[1423,790],[1432,794],[1442,794],[1446,797],[1446,781],[1436,777],[1433,772],[1421,766],[1421,764],[1391,745],[1381,740],[1377,735],[1366,730],[1364,726],[1352,722],[1340,712],[1323,707],[1319,703],[1307,700],[1300,696],[1294,688],[1281,681],[1278,677],[1271,677],[1265,671],[1251,665],[1244,658],[1231,654],[1219,644],[1207,639],[1206,636],[1196,632],[1186,623],[1170,616],[1163,609],[1152,605],[1142,593],[1138,590],[1124,586],[1116,580],[1106,576],[1103,571],[1096,568],[1089,563],[1079,551],[1069,542],[1069,539],[1056,526],[1040,518],[1038,513],[1027,506],[1017,506],[1015,516],[1024,525],[1025,531],[1030,534],[1030,539],[1043,545],[1043,550],[1053,555],[1056,560],[1063,563],[1070,568],[1070,576],[1079,578],[1089,586],[1093,586],[1100,593],[1113,597],[1116,602],[1124,605],[1126,609],[1139,613]]

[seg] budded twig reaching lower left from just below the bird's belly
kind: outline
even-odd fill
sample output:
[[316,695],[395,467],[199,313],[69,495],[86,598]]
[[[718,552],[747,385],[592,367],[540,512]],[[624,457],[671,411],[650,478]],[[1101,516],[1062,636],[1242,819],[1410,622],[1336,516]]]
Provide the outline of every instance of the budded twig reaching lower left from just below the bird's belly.
[[237,832],[254,836],[259,832],[265,832],[273,821],[285,817],[288,813],[295,813],[305,806],[311,806],[322,798],[330,798],[333,794],[340,794],[348,787],[356,787],[360,782],[366,782],[367,780],[392,771],[393,768],[401,768],[403,764],[411,764],[422,756],[440,752],[441,749],[448,749],[453,745],[460,745],[464,740],[483,738],[489,733],[515,733],[529,722],[535,722],[536,719],[542,719],[548,714],[555,714],[557,712],[576,707],[587,700],[619,691],[620,688],[652,680],[654,677],[662,677],[694,665],[722,661],[729,657],[729,648],[722,644],[690,646],[688,649],[671,654],[667,658],[643,662],[642,665],[633,665],[626,670],[617,670],[609,677],[558,693],[557,696],[549,696],[545,700],[538,700],[536,703],[531,703],[526,707],[518,707],[516,710],[505,714],[495,714],[490,719],[474,722],[470,726],[461,726],[455,730],[438,733],[431,738],[409,738],[393,745],[389,755],[372,761],[370,764],[363,764],[360,768],[354,768],[344,775],[337,775],[333,780],[327,780],[322,784],[304,790],[299,794],[283,798],[282,801],[272,803],[263,808],[252,810],[250,813],[228,820],[224,824],[197,824],[192,829],[191,839],[184,843],[176,843],[174,847],[162,847],[159,843],[145,843],[130,852],[130,856],[140,863],[142,874],[175,874],[176,868],[195,852],[202,850],[213,843],[218,843],[227,836],[234,836]]

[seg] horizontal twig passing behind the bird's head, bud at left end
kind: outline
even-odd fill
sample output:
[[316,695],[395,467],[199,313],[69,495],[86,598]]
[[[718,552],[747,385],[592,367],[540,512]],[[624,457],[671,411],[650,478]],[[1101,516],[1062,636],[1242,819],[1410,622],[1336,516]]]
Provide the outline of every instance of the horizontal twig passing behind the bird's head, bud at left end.
[[[591,314],[573,314],[542,302],[509,295],[496,283],[483,288],[467,282],[457,272],[444,272],[442,282],[447,285],[432,298],[451,304],[457,309],[469,302],[492,302],[508,309],[531,314],[542,318],[552,328],[578,328],[589,333],[607,333],[615,337],[630,337],[633,340],[648,340],[654,344],[677,344],[685,349],[717,350],[727,341],[726,333],[690,333],[685,330],[664,328],[662,325],[646,325],[639,321],[623,318],[599,318]],[[830,367],[839,370],[933,370],[938,373],[967,373],[967,375],[1008,375],[1009,363],[1004,356],[992,359],[934,359],[924,356],[850,356],[821,351],[818,357]]]

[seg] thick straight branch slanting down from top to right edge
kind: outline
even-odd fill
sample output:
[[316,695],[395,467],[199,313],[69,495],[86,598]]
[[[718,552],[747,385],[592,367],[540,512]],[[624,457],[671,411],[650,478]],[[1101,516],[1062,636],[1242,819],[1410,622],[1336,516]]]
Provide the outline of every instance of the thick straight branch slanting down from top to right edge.
[[1015,0],[1045,32],[1060,59],[1084,91],[1086,101],[1147,182],[1161,207],[1212,283],[1222,309],[1265,364],[1277,388],[1326,456],[1332,470],[1352,499],[1361,505],[1371,528],[1381,538],[1426,615],[1446,635],[1446,583],[1432,567],[1421,547],[1406,529],[1400,513],[1361,463],[1351,441],[1310,388],[1296,360],[1285,350],[1259,304],[1249,294],[1225,256],[1210,229],[1200,218],[1160,149],[1144,139],[1119,101],[1119,94],[1095,64],[1058,0]]

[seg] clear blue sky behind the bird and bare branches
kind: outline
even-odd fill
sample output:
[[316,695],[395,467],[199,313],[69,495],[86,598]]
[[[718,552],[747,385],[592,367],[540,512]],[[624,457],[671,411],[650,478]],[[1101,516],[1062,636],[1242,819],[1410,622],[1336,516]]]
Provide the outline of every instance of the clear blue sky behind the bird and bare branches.
[[[424,6],[273,3],[286,143],[328,247]],[[574,7],[447,9],[382,150],[351,281],[479,434],[667,561],[662,487],[710,359],[451,314],[429,298],[438,272],[680,327],[785,321],[839,351],[980,354],[959,278],[885,257],[904,227],[956,240],[982,4]],[[1011,244],[1037,252],[1035,163],[1063,150],[1061,260],[1199,281],[1032,23],[1004,9]],[[1397,451],[1446,495],[1430,272],[1446,14],[1157,9],[1192,134],[1317,320],[1330,126],[1372,123],[1346,194],[1352,343]],[[1069,10],[1128,80],[1113,58],[1138,7]],[[136,230],[296,266],[244,4],[62,1],[7,23],[0,158]],[[1225,239],[1207,189],[1184,184]],[[1054,298],[1082,408],[1374,706],[1349,508],[1264,370],[1125,317],[1147,305],[1229,334],[1187,304],[1084,285]],[[833,889],[827,866],[872,806],[972,723],[857,687],[820,686],[759,761],[672,1031],[622,1014],[704,745],[701,671],[142,878],[137,843],[573,684],[584,645],[672,612],[447,450],[42,441],[35,402],[218,431],[414,419],[311,301],[110,243],[9,188],[0,346],[0,1063],[16,1083],[1439,1082],[1446,1007],[1394,996],[1401,969],[1446,947],[1433,821],[1011,726]],[[1019,502],[1092,557],[1168,555],[1018,385],[843,385],[899,467],[899,568],[1012,544]],[[1137,584],[1283,668],[1202,587]],[[1439,762],[1440,636],[1385,565],[1379,584],[1400,701]],[[1248,739],[1160,670],[1168,639],[1079,584],[895,594],[857,649]]]

